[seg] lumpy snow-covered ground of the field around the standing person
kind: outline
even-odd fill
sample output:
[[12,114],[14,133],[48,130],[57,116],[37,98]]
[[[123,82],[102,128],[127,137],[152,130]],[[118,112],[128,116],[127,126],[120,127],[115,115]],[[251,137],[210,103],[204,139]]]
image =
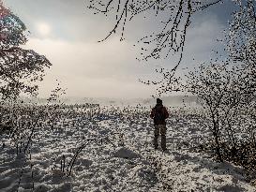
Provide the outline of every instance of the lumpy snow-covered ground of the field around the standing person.
[[8,136],[1,135],[0,191],[256,190],[241,168],[191,149],[209,137],[200,117],[169,111],[165,153],[153,149],[149,109],[102,108],[92,119],[63,117],[54,128],[36,129],[26,155],[17,155]]

